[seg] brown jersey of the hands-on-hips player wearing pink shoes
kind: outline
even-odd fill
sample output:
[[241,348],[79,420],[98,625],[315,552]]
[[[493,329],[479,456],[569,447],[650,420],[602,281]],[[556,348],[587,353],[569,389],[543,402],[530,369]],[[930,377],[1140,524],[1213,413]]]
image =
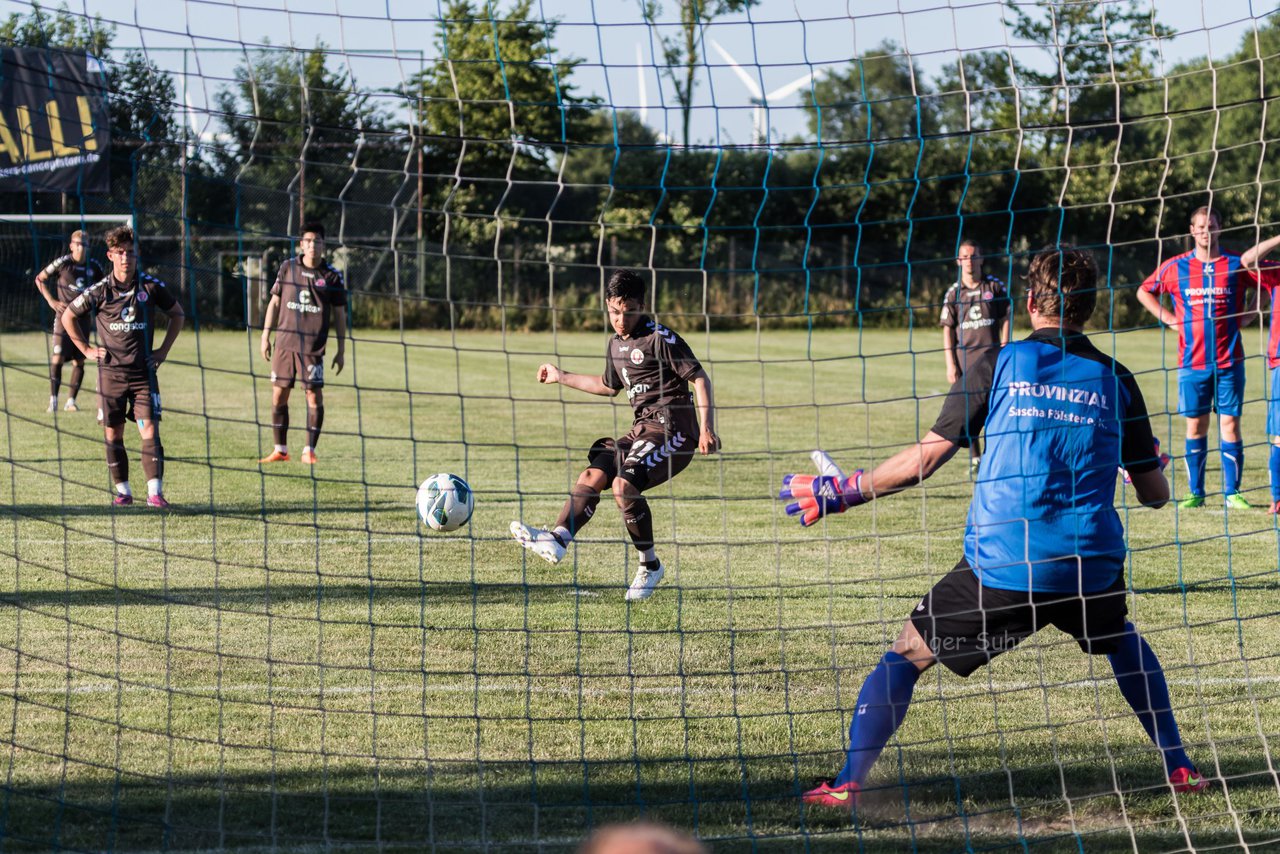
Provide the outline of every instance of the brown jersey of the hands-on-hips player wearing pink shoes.
[[76,316],[95,314],[97,343],[106,348],[102,369],[131,371],[146,367],[156,310],[168,311],[175,302],[164,282],[138,270],[127,284],[106,275],[84,288],[69,310]]

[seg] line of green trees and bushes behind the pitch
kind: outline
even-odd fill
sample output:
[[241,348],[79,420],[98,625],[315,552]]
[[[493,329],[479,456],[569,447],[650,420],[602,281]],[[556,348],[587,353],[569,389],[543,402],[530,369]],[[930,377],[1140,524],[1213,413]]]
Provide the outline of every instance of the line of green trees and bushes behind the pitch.
[[966,52],[931,76],[884,42],[815,79],[804,138],[698,145],[701,33],[754,3],[678,0],[662,31],[684,145],[581,92],[581,60],[532,0],[497,18],[449,0],[439,59],[396,90],[357,87],[324,44],[252,51],[214,99],[212,141],[192,140],[173,78],[116,51],[110,26],[33,5],[0,44],[110,59],[113,188],[8,193],[5,209],[133,213],[183,280],[198,273],[192,288],[241,287],[244,257],[319,218],[344,237],[357,323],[518,328],[598,326],[602,265],[653,269],[676,325],[932,324],[964,237],[1015,279],[1042,245],[1093,247],[1106,323],[1132,325],[1133,287],[1183,248],[1194,207],[1212,200],[1239,248],[1277,220],[1275,15],[1229,55],[1161,73],[1172,33],[1137,0],[1009,3],[1038,60]]

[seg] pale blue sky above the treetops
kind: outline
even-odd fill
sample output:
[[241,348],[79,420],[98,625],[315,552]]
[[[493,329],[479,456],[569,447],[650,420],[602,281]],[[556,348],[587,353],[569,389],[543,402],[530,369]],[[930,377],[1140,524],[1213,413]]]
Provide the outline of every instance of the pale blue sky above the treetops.
[[[483,0],[479,0],[483,3]],[[394,87],[436,58],[435,36],[444,0],[46,0],[74,14],[101,15],[116,28],[118,47],[142,47],[178,82],[193,123],[214,131],[204,109],[228,79],[246,47],[265,42],[310,47],[317,40],[344,54],[364,90]],[[1029,0],[1028,0],[1029,3]],[[494,4],[499,10],[509,3]],[[675,31],[675,0],[659,27]],[[1274,4],[1249,0],[1158,0],[1157,18],[1178,35],[1162,45],[1172,67],[1235,50]],[[0,0],[0,14],[27,13],[29,0]],[[579,93],[595,93],[637,110],[659,133],[678,141],[680,113],[668,81],[659,77],[658,33],[640,15],[640,0],[534,0],[544,19],[558,19],[554,47],[584,63]],[[1043,51],[1019,44],[1002,23],[998,0],[762,0],[746,14],[727,15],[707,29],[708,65],[695,92],[695,142],[750,143],[768,127],[771,140],[805,134],[800,93],[810,73],[844,68],[850,59],[892,40],[928,76],[959,51],[1011,47],[1027,63]],[[756,124],[753,92],[709,42],[718,44],[756,91],[774,92],[765,125]],[[804,83],[799,83],[804,81]],[[390,106],[390,105],[388,105]]]

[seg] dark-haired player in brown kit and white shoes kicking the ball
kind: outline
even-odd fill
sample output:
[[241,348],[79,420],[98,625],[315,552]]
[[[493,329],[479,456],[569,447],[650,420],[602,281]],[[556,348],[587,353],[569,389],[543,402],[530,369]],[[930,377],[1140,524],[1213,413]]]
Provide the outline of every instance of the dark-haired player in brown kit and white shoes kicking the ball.
[[712,380],[684,338],[644,312],[645,289],[644,279],[631,270],[618,270],[609,279],[605,306],[616,334],[605,352],[604,374],[571,374],[556,365],[538,369],[539,383],[605,397],[626,389],[635,408],[631,431],[621,439],[596,439],[588,452],[590,463],[550,530],[511,524],[511,535],[521,545],[559,563],[573,536],[591,521],[600,493],[612,489],[640,552],[640,568],[627,589],[631,600],[653,595],[664,574],[653,544],[653,515],[641,493],[684,471],[695,448],[704,455],[719,448]]

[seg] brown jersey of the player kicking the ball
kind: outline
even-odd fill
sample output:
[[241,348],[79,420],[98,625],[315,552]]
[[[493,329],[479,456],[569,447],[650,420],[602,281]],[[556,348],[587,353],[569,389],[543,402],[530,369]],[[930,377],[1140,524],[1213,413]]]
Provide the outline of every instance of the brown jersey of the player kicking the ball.
[[634,335],[609,339],[600,379],[612,389],[626,389],[636,421],[696,424],[689,382],[701,369],[684,338],[641,318]]

